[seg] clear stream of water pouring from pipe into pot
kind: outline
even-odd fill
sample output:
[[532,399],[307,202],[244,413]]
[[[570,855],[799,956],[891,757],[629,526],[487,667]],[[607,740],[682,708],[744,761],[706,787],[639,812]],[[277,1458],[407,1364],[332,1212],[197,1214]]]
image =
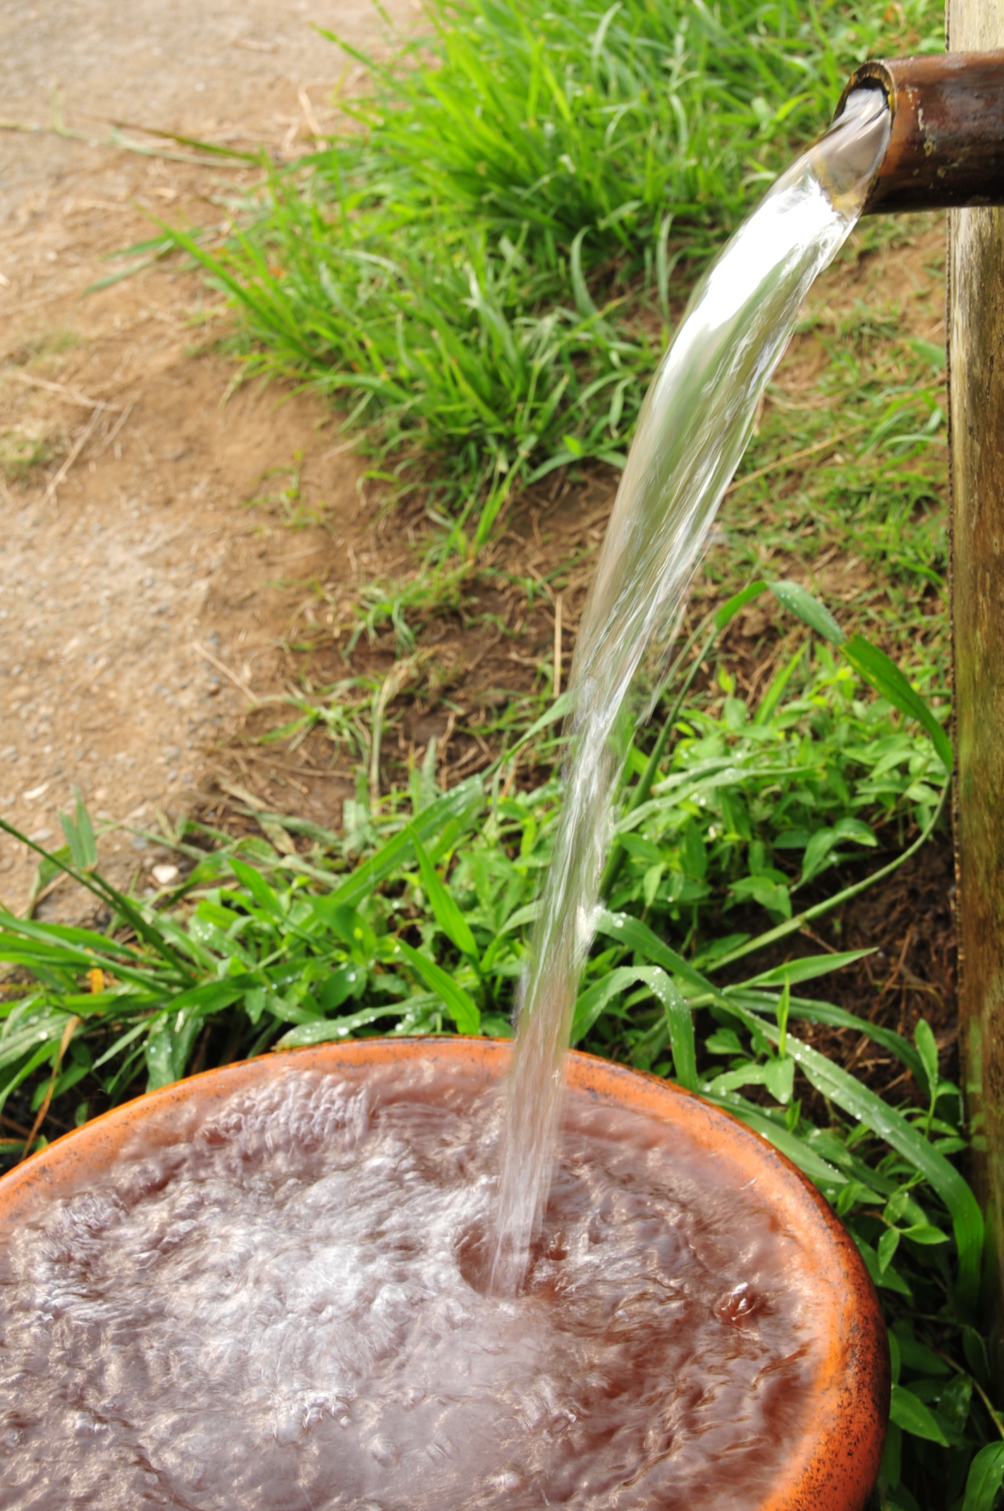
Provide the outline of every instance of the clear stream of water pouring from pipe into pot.
[[649,388],[603,541],[572,668],[564,808],[534,934],[500,1142],[490,1289],[514,1293],[547,1195],[562,1062],[593,938],[632,680],[682,613],[756,402],[817,273],[857,221],[889,141],[878,89],[773,186],[694,290]]

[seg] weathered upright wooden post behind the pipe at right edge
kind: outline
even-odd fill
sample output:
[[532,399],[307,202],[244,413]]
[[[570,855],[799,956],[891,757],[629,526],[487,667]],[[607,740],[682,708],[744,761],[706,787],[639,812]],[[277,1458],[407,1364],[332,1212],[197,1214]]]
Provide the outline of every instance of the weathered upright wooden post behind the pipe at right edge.
[[[1004,47],[1004,0],[948,0],[953,53]],[[1004,209],[948,212],[960,1050],[1004,1380]]]

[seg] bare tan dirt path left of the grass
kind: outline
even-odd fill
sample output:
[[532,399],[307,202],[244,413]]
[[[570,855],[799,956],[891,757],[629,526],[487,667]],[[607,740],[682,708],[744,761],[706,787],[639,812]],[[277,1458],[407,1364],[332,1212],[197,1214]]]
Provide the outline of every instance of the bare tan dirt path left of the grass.
[[[407,24],[413,8],[390,14]],[[109,122],[302,151],[361,74],[310,23],[380,47],[364,0],[0,8],[0,811],[42,842],[62,840],[73,786],[133,823],[191,804],[249,695],[281,688],[301,585],[337,595],[370,565],[334,417],[278,388],[231,393],[195,275],[88,293],[151,216],[218,224],[256,175],[135,130],[154,156],[103,145]],[[295,470],[295,517],[324,527],[249,505]],[[293,780],[337,811],[327,777]],[[278,768],[272,781],[281,796]],[[103,848],[119,876],[139,858],[121,833]],[[33,872],[0,840],[9,907]]]

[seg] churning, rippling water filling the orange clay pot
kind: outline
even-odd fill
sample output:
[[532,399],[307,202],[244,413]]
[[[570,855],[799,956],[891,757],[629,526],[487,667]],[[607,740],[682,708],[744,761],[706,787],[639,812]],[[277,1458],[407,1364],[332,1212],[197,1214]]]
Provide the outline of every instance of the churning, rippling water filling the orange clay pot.
[[526,1293],[484,1295],[493,1095],[408,1074],[283,1070],[6,1236],[5,1511],[759,1503],[818,1367],[797,1242],[570,1097]]

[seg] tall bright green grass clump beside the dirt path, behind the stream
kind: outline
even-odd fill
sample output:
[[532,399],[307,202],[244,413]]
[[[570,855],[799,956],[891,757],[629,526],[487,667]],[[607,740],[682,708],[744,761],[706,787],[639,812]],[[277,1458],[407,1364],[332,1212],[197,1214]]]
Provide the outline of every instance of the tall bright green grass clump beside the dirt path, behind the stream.
[[[618,462],[670,296],[883,47],[940,11],[830,0],[429,0],[352,130],[215,251],[253,369],[292,373],[457,500]],[[891,29],[892,27],[892,29]],[[342,44],[346,45],[346,44]],[[348,48],[352,51],[352,48]]]

